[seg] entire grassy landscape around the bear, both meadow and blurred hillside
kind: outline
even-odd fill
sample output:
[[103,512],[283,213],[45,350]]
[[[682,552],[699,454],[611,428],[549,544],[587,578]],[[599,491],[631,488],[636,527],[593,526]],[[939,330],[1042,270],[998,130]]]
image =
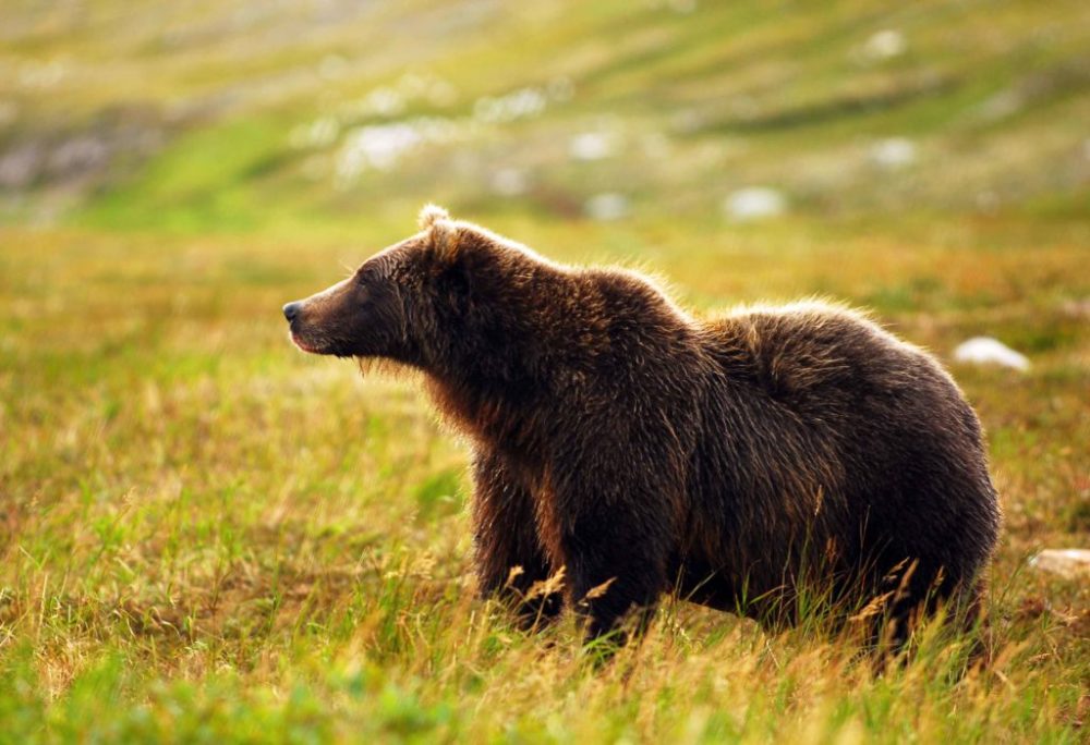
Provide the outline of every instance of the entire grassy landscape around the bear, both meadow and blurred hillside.
[[[705,4],[5,9],[0,742],[1087,740],[1090,584],[1028,560],[1090,547],[1090,11]],[[279,315],[429,199],[700,312],[1028,355],[950,363],[1006,513],[991,664],[685,603],[601,670],[512,628],[464,443]]]

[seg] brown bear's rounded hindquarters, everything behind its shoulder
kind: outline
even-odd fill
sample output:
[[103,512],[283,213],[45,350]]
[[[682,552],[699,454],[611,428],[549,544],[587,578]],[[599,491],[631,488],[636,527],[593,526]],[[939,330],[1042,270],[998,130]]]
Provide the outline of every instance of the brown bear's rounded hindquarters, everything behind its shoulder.
[[718,522],[695,523],[708,557],[767,591],[792,561],[777,537],[810,532],[848,564],[912,557],[921,574],[971,576],[998,506],[976,414],[934,358],[816,302],[739,308],[704,331],[720,378],[691,499],[715,506]]

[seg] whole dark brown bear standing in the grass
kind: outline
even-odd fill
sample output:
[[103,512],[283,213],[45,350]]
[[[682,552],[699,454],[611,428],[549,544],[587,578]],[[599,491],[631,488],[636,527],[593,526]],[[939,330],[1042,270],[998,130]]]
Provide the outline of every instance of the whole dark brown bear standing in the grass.
[[[304,351],[423,373],[472,441],[481,589],[528,625],[567,602],[596,638],[673,591],[778,626],[819,587],[809,604],[879,602],[904,634],[916,608],[976,603],[1001,522],[980,424],[857,313],[697,318],[640,273],[428,206],[283,314]],[[561,570],[562,593],[529,591]]]

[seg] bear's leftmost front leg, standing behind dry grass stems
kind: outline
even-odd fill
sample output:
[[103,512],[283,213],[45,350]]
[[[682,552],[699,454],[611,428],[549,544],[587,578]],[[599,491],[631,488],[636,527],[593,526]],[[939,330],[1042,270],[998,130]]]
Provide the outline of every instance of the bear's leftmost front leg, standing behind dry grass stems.
[[482,594],[500,598],[525,630],[548,624],[564,603],[559,591],[531,596],[533,585],[552,573],[537,540],[533,494],[496,453],[476,454],[473,485],[476,572]]

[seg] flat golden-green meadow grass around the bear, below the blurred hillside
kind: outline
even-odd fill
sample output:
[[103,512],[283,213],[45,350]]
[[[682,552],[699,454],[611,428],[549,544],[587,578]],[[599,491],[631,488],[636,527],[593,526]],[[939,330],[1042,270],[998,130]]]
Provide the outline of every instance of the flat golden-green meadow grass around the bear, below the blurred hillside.
[[476,599],[465,451],[413,381],[360,378],[283,338],[280,302],[393,235],[9,231],[3,737],[1078,740],[1087,590],[1025,566],[1090,530],[1078,233],[1041,229],[1028,254],[1003,247],[1025,225],[971,222],[730,240],[501,227],[566,260],[644,256],[708,310],[820,289],[941,355],[978,332],[1020,342],[1024,377],[956,369],[1007,512],[993,662],[966,672],[971,639],[924,640],[875,676],[815,624],[767,636],[670,603],[598,669],[570,620],[525,636]]

